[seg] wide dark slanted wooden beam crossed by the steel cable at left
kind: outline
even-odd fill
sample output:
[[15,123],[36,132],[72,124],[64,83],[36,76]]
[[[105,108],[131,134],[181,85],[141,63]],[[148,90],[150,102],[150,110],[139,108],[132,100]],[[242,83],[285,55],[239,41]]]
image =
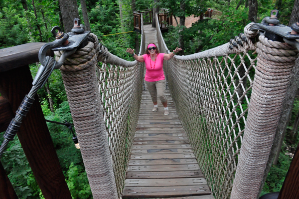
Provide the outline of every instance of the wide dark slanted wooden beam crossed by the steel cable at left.
[[[0,72],[0,93],[15,112],[32,85],[29,66]],[[45,199],[72,199],[41,110],[38,96],[17,133]]]

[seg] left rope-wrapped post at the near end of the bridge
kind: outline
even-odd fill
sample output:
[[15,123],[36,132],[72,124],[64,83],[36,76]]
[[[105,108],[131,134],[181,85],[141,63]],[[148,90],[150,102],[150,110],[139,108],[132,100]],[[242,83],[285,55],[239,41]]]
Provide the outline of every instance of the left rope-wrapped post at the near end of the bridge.
[[[99,41],[92,33],[89,40],[66,59],[61,73],[93,198],[117,199],[95,71]],[[61,53],[55,52],[56,60]]]

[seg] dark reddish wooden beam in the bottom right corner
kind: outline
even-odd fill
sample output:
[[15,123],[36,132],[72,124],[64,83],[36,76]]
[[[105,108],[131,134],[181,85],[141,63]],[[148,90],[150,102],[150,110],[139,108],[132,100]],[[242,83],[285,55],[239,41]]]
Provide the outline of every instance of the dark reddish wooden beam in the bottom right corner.
[[298,199],[299,196],[299,144],[278,199]]

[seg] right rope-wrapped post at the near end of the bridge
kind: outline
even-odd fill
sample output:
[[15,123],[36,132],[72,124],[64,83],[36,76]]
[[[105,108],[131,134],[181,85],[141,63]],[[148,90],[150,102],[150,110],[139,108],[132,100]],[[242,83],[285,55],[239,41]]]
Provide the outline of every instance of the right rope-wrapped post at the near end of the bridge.
[[258,60],[231,199],[256,199],[281,116],[297,50],[287,43],[257,43]]

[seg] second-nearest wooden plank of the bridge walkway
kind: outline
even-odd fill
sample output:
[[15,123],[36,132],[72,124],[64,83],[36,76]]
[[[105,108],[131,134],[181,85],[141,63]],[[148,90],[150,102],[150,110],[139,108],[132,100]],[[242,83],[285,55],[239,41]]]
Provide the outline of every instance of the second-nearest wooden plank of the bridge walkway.
[[167,187],[167,186],[195,186],[207,185],[204,178],[183,178],[183,179],[127,179],[126,187]]

